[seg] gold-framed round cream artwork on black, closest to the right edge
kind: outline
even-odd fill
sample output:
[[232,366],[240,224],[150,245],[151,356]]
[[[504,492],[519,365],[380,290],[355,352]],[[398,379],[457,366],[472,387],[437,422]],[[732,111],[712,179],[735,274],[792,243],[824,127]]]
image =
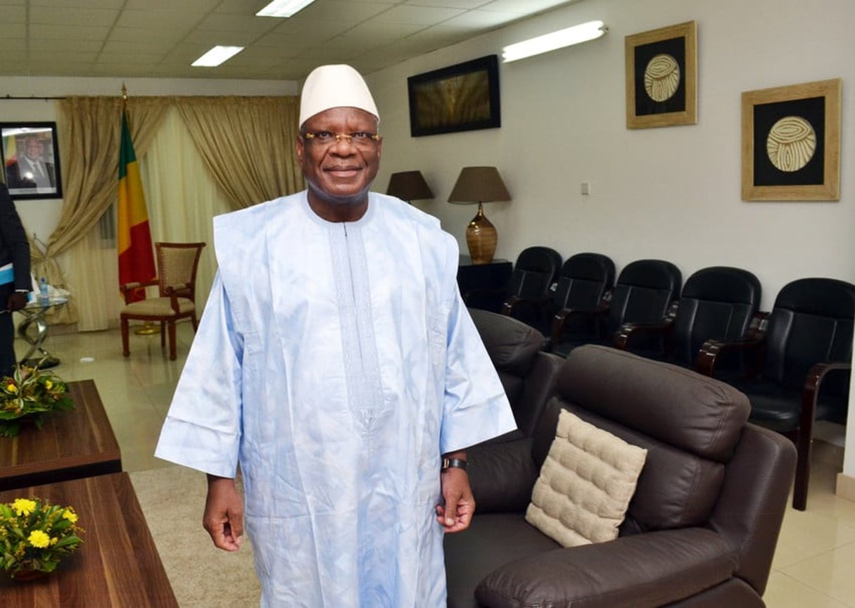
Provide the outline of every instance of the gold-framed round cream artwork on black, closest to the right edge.
[[841,80],[742,93],[742,200],[840,200]]

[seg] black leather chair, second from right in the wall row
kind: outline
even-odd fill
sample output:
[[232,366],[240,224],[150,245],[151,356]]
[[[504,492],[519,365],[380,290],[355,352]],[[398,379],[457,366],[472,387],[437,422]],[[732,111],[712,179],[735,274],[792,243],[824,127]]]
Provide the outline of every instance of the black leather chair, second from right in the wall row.
[[[761,291],[760,281],[747,270],[728,266],[700,269],[686,280],[674,316],[656,324],[624,324],[616,334],[615,346],[694,368],[700,347],[707,340],[743,339],[752,329],[752,322],[758,324]],[[665,348],[635,348],[637,336],[645,334],[663,335]],[[730,368],[740,367],[738,357],[728,363]]]

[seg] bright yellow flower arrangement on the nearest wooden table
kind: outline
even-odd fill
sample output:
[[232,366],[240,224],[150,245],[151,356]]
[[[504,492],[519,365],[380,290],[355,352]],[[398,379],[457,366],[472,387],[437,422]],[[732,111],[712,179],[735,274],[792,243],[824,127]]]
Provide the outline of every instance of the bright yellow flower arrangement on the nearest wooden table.
[[22,572],[53,572],[83,540],[72,507],[47,500],[15,499],[0,503],[0,568],[15,577]]

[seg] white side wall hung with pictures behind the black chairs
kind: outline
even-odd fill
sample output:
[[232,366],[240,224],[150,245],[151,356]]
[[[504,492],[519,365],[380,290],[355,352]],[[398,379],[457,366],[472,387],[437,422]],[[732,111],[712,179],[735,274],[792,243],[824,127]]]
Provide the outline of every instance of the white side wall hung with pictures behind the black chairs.
[[[410,137],[408,76],[501,55],[504,44],[592,19],[604,20],[610,32],[500,65],[501,128]],[[698,124],[627,129],[624,37],[692,20]],[[465,252],[463,233],[475,209],[445,201],[460,168],[495,165],[513,197],[485,205],[498,229],[498,257],[513,260],[528,245],[550,245],[565,258],[605,253],[618,271],[635,259],[660,257],[677,264],[684,280],[705,266],[739,266],[758,275],[765,310],[793,279],[855,281],[852,23],[852,0],[583,0],[437,50],[369,75],[384,135],[376,189],[385,190],[395,171],[421,169],[436,198],[416,204],[437,215]],[[840,201],[740,200],[740,93],[837,77],[843,79]],[[591,183],[590,196],[581,196],[582,181]],[[843,442],[842,428],[823,434]],[[855,475],[855,450],[846,451],[844,471]]]

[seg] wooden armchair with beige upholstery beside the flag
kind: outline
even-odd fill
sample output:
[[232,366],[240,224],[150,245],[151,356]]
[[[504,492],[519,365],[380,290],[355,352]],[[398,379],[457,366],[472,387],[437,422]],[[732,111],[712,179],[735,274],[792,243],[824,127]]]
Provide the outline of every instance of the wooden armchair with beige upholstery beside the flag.
[[[196,316],[196,271],[204,243],[155,243],[157,278],[120,286],[125,297],[121,310],[122,355],[130,356],[128,322],[157,322],[161,326],[161,348],[165,345],[164,329],[169,334],[169,358],[175,360],[175,322],[189,318],[193,331],[198,328]],[[133,294],[146,286],[157,286],[159,297],[134,301]]]

